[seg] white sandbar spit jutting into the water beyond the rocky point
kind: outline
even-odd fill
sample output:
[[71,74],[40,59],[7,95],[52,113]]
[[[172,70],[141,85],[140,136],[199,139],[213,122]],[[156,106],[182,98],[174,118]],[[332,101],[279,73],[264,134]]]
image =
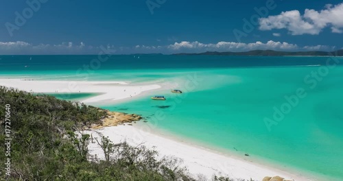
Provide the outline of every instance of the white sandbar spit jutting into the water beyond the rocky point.
[[157,84],[131,85],[126,82],[86,82],[0,79],[1,86],[18,88],[31,93],[99,93],[95,97],[82,100],[84,103],[118,101],[140,95],[144,91],[161,88]]

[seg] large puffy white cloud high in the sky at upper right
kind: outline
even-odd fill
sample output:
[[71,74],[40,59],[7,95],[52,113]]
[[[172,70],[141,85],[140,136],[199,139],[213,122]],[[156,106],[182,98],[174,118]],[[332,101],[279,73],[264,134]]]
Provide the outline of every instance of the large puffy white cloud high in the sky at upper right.
[[288,29],[292,35],[319,34],[325,27],[333,33],[343,33],[343,3],[325,5],[324,10],[306,9],[304,14],[298,10],[281,12],[276,16],[259,19],[259,29]]

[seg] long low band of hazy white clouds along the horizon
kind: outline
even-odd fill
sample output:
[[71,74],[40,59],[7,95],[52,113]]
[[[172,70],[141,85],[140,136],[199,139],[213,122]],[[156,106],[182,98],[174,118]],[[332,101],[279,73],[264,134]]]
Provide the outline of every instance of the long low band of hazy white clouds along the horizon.
[[103,49],[115,51],[117,54],[129,53],[200,53],[204,51],[250,51],[255,49],[272,49],[279,51],[332,51],[335,47],[327,45],[315,45],[299,47],[296,44],[269,40],[268,42],[257,41],[255,43],[218,42],[200,43],[198,41],[181,41],[171,45],[136,45],[133,47],[115,47],[106,45],[100,47],[86,46],[84,43],[74,44],[71,42],[58,45],[39,44],[33,45],[23,41],[0,42],[0,54],[97,54]]

